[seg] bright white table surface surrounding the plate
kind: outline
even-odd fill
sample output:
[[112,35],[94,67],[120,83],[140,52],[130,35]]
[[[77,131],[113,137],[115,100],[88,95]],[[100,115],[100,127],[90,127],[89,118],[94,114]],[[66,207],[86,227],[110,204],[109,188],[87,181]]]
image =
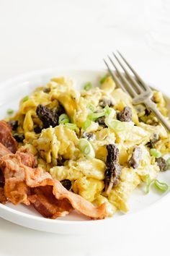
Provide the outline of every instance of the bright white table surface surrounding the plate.
[[[144,79],[169,90],[170,56],[146,43],[146,2],[0,0],[0,81],[49,67],[104,67],[102,58],[119,48]],[[48,234],[0,218],[0,255],[169,255],[169,208],[164,202],[140,219],[143,229],[113,226],[96,236]]]

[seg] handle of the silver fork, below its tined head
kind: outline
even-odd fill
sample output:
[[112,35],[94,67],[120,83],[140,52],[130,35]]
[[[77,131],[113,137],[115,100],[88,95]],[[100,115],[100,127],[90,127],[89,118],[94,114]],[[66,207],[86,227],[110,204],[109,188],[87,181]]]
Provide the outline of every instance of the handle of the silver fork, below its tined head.
[[161,112],[156,107],[156,103],[153,103],[151,101],[151,98],[148,98],[146,101],[143,101],[143,103],[146,105],[146,108],[151,110],[153,114],[157,117],[157,119],[161,122],[162,125],[170,132],[170,123],[169,121],[161,114]]

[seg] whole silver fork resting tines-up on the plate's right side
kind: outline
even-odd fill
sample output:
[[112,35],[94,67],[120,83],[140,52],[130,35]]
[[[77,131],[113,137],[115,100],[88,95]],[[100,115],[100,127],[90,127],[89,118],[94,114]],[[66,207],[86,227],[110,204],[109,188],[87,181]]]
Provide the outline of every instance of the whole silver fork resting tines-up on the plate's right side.
[[[120,72],[120,69],[118,69],[117,64],[113,61],[113,59],[108,56],[110,64],[112,64],[112,67],[115,68],[115,71],[112,71],[112,68],[109,67],[108,61],[104,59],[104,63],[107,66],[107,69],[109,70],[109,73],[111,74],[112,78],[115,80],[118,87],[122,88],[122,90],[125,91],[125,93],[128,93],[131,98],[133,98],[133,104],[139,104],[144,103],[146,105],[146,108],[148,108],[150,111],[153,112],[153,114],[157,117],[157,119],[161,122],[161,124],[164,125],[164,127],[170,132],[170,124],[169,121],[161,114],[161,112],[156,107],[156,103],[154,103],[151,98],[153,97],[153,91],[151,88],[146,85],[145,82],[141,79],[141,77],[135,72],[133,67],[130,66],[128,61],[120,54],[119,51],[117,51],[117,54],[119,54],[119,57],[112,53],[113,56],[115,56],[115,59],[119,63],[120,67],[123,69],[124,74]],[[128,68],[133,72],[134,77],[130,75],[128,72],[128,69],[125,68],[125,66],[128,66]]]

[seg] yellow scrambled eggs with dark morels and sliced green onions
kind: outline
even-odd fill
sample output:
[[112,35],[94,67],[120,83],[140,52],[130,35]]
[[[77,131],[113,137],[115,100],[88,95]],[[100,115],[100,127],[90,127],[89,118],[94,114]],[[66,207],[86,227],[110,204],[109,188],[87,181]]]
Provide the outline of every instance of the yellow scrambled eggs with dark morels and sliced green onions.
[[[162,93],[153,91],[152,100],[168,119]],[[95,88],[86,82],[81,91],[70,78],[53,78],[9,114],[14,138],[35,155],[36,166],[94,205],[106,202],[108,216],[128,211],[139,184],[146,182],[147,191],[155,181],[164,187],[156,178],[169,168],[162,157],[170,152],[169,133],[144,105],[133,106],[112,77]]]

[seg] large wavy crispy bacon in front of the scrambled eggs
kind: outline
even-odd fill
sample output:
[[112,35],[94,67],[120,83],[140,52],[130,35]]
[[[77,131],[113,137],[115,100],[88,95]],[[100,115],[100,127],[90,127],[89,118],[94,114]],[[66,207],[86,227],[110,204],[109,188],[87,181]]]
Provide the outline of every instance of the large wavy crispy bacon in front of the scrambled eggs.
[[[95,207],[83,197],[69,192],[42,168],[25,166],[22,163],[23,154],[27,155],[17,152],[4,155],[0,160],[5,178],[4,192],[14,205],[32,203],[47,218],[64,216],[73,209],[94,219],[107,216],[105,204]],[[24,155],[24,158],[27,157]]]

